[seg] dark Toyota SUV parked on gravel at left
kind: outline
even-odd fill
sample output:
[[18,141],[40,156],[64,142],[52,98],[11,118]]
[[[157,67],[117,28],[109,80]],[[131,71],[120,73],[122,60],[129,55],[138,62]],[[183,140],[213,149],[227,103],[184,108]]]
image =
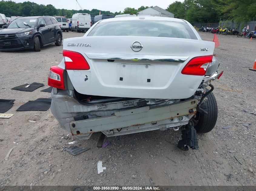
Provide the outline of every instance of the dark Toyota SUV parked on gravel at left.
[[35,49],[55,43],[62,44],[62,31],[54,17],[21,17],[0,30],[0,51]]

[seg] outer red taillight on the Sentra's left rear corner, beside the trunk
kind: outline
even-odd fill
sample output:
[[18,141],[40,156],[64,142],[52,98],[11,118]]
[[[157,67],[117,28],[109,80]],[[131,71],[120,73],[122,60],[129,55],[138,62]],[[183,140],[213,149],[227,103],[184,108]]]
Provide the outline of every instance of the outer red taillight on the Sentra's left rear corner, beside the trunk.
[[52,66],[48,75],[48,86],[65,90],[64,69]]

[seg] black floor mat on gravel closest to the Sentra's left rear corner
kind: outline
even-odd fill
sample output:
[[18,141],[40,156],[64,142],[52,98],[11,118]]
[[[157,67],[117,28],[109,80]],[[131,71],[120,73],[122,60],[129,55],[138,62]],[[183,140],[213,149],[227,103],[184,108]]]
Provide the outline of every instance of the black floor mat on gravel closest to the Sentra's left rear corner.
[[51,102],[52,98],[38,98],[23,104],[17,111],[47,111],[51,107]]

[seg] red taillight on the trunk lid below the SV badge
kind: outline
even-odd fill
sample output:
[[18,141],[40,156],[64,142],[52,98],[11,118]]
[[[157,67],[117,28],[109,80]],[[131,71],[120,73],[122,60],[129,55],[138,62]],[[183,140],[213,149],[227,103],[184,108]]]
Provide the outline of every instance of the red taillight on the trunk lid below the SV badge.
[[192,58],[182,69],[181,74],[198,76],[205,75],[208,65],[212,62],[212,57],[213,55]]

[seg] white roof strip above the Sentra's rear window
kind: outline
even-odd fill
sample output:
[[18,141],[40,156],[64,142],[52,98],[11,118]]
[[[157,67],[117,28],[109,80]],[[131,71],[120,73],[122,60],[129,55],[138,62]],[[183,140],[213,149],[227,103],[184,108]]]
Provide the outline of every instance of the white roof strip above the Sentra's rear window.
[[137,17],[116,17],[101,20],[100,22],[110,22],[110,21],[137,21],[137,20],[145,20],[145,21],[176,21],[186,23],[183,19],[171,18],[171,17],[154,17],[154,16],[137,16]]

